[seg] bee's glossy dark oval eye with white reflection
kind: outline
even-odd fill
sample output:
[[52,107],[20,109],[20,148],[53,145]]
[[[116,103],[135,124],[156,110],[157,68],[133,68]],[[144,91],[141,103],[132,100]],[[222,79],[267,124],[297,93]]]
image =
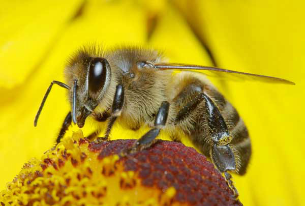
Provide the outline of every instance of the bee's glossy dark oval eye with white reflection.
[[98,92],[103,89],[107,77],[109,63],[105,58],[97,57],[89,65],[89,91]]

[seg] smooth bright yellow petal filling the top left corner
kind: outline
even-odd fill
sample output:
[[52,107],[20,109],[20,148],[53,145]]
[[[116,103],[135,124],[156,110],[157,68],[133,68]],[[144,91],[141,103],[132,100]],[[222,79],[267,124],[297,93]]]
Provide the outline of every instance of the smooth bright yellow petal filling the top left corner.
[[81,1],[3,3],[0,87],[12,89],[37,71]]

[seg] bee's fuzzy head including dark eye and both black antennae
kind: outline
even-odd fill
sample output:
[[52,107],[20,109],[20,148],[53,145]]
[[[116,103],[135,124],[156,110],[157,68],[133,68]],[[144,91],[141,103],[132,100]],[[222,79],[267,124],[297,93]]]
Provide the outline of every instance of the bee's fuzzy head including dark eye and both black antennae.
[[100,57],[103,56],[101,51],[97,47],[83,48],[70,58],[65,69],[67,84],[55,80],[51,82],[35,116],[35,127],[53,84],[69,91],[72,120],[78,127],[84,126],[88,115],[103,100],[111,80],[110,65],[106,58]]

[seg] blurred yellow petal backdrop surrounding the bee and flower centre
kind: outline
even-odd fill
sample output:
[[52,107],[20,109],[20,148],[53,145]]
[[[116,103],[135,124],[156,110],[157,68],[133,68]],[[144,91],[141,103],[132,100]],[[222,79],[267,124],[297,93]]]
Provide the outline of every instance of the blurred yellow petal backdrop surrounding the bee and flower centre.
[[[305,204],[302,1],[0,3],[0,190],[26,161],[53,145],[70,108],[66,91],[53,87],[37,128],[34,116],[49,83],[64,80],[67,57],[79,46],[146,45],[163,50],[171,62],[211,65],[203,41],[219,67],[296,82],[289,86],[212,80],[245,120],[253,143],[248,173],[234,175],[241,202]],[[157,24],[147,40],[151,18]],[[89,121],[85,131],[94,127]],[[138,137],[146,130],[123,131],[116,125],[111,138]]]

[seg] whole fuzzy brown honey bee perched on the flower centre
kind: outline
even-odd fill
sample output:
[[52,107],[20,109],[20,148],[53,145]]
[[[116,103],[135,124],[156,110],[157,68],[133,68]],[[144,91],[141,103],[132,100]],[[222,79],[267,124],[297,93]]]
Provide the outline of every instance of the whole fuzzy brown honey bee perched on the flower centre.
[[[163,63],[163,59],[158,51],[139,47],[119,47],[110,51],[94,46],[79,49],[68,61],[66,83],[52,81],[48,87],[34,125],[37,125],[52,85],[57,84],[68,90],[71,104],[57,143],[72,121],[82,128],[87,117],[108,122],[104,139],[108,139],[116,121],[131,129],[148,125],[151,129],[125,151],[127,154],[148,148],[161,130],[171,134],[174,140],[179,134],[186,134],[224,174],[237,197],[228,171],[245,174],[251,157],[249,133],[236,109],[201,72],[294,83],[215,67]],[[173,73],[174,70],[181,72]],[[94,139],[98,134],[98,131],[94,132],[88,138]]]

